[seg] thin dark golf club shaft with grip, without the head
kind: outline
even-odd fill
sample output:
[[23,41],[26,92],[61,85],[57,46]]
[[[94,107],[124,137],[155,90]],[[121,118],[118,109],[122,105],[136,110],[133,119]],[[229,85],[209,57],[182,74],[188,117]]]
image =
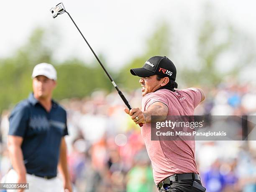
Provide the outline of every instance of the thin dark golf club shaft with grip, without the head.
[[[125,96],[123,95],[123,93],[119,90],[119,88],[116,86],[113,78],[110,76],[110,74],[108,73],[107,69],[105,69],[104,65],[101,63],[100,59],[98,58],[98,56],[95,54],[95,52],[93,51],[92,47],[90,46],[90,44],[88,43],[88,41],[86,40],[86,38],[84,37],[83,33],[80,31],[80,29],[78,28],[77,24],[74,22],[74,20],[72,19],[71,15],[65,10],[65,12],[69,15],[70,19],[73,21],[74,25],[77,27],[77,30],[79,31],[79,33],[82,35],[82,37],[84,38],[84,41],[87,43],[87,45],[89,46],[89,48],[91,49],[92,53],[94,54],[95,58],[97,59],[97,61],[100,63],[100,66],[102,67],[102,69],[105,71],[105,73],[108,75],[108,78],[110,79],[110,81],[112,82],[112,84],[114,85],[115,89],[117,90],[118,94],[120,95],[121,99],[123,100],[123,102],[125,103],[125,105],[128,107],[129,110],[131,110],[131,105],[129,104],[128,100],[125,98]],[[139,123],[140,127],[143,126],[142,123]]]

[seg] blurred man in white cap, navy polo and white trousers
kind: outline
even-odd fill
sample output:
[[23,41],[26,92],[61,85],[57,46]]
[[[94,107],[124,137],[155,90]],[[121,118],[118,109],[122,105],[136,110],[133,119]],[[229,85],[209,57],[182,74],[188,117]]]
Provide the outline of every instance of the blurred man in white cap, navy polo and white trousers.
[[[52,100],[56,70],[41,63],[34,67],[32,77],[33,93],[15,106],[9,118],[8,150],[13,169],[5,183],[29,183],[30,192],[72,192],[64,140],[67,113]],[[63,182],[56,177],[57,168]]]

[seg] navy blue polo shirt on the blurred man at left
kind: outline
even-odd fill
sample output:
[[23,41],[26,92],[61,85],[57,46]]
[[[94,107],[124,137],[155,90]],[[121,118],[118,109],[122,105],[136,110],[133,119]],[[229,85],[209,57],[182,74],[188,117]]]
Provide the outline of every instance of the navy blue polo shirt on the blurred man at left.
[[52,101],[48,113],[31,93],[18,103],[10,118],[8,135],[21,136],[27,173],[56,176],[61,138],[68,134],[67,113]]

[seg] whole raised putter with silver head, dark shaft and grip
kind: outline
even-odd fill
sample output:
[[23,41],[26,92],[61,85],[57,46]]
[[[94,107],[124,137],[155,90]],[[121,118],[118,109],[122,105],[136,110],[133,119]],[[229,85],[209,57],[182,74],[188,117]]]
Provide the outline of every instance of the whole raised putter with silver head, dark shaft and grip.
[[[63,3],[59,3],[58,5],[56,5],[55,7],[50,9],[51,11],[51,15],[53,18],[56,18],[58,15],[61,15],[62,13],[67,13],[69,15],[69,13],[65,10]],[[72,19],[72,17],[69,15],[70,19],[73,21],[74,25],[77,27],[77,30],[79,31],[79,33],[82,35],[82,37],[84,38],[84,35],[82,34],[82,32],[80,31],[80,29],[78,28],[77,24],[74,22],[74,20]],[[123,102],[125,103],[125,105],[128,107],[129,110],[131,110],[131,105],[129,104],[128,100],[125,98],[125,96],[123,95],[123,93],[119,90],[119,88],[117,87],[117,85],[115,84],[113,78],[110,76],[110,74],[108,73],[108,71],[105,69],[105,67],[103,66],[103,64],[101,63],[100,59],[97,57],[97,55],[95,54],[95,52],[93,51],[92,47],[90,46],[90,44],[88,43],[88,41],[84,38],[84,41],[87,43],[87,45],[89,46],[89,48],[91,49],[92,53],[94,54],[95,58],[97,59],[97,61],[100,63],[100,66],[102,67],[102,69],[105,71],[105,73],[108,75],[108,78],[110,79],[110,81],[112,82],[112,84],[114,85],[115,89],[117,90],[118,94],[120,95],[120,97],[122,98]],[[139,123],[140,127],[143,126],[142,123]]]

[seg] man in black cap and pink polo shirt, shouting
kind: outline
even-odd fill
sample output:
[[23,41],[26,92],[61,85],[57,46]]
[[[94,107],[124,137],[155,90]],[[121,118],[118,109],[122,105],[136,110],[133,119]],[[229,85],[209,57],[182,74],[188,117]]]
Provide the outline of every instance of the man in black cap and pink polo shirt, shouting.
[[125,108],[125,113],[136,124],[143,123],[141,134],[159,191],[205,192],[195,161],[195,141],[151,141],[151,115],[161,115],[162,120],[167,115],[194,115],[204,93],[199,88],[174,90],[176,67],[166,56],[151,57],[131,74],[141,77],[142,110]]

